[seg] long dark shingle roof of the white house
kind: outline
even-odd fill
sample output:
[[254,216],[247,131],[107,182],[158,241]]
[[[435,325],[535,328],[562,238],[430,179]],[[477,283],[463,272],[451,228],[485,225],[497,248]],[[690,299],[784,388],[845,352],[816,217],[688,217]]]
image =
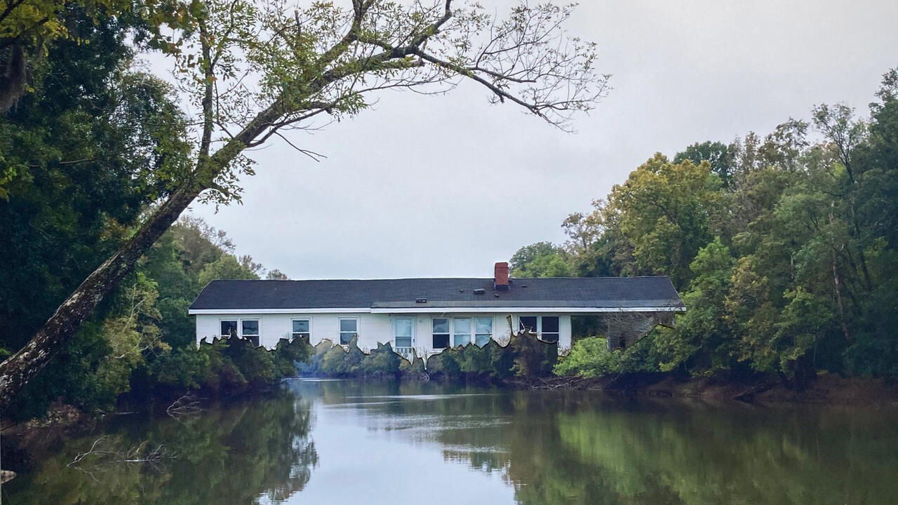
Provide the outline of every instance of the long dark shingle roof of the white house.
[[[474,289],[484,289],[477,295]],[[427,298],[427,303],[416,303]],[[667,277],[512,279],[213,280],[190,309],[407,307],[683,307]]]

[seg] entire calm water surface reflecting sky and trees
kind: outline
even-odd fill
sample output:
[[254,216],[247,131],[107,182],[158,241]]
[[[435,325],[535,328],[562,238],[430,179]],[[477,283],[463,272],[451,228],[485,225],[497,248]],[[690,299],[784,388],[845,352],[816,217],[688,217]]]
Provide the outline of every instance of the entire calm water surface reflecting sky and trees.
[[[102,435],[113,453],[177,457],[69,465]],[[190,420],[119,416],[38,445],[14,455],[25,470],[4,505],[898,503],[894,409],[295,380]]]

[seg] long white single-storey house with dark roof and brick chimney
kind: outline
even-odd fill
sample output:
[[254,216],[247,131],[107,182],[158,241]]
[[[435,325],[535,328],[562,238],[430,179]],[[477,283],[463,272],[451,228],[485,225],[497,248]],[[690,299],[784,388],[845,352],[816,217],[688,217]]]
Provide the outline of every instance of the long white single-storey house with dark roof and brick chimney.
[[281,339],[358,337],[365,352],[390,343],[425,357],[490,339],[505,344],[512,328],[566,352],[572,315],[611,316],[609,347],[623,347],[682,311],[666,277],[509,279],[506,262],[491,279],[214,280],[189,306],[198,343],[238,335],[273,349]]

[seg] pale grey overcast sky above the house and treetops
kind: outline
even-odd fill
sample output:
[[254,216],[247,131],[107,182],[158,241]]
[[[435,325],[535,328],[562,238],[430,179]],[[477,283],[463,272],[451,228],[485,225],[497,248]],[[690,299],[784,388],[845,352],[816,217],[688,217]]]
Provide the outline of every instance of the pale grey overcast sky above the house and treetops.
[[[481,0],[505,10],[510,2]],[[242,206],[195,204],[237,253],[292,279],[490,277],[524,244],[563,242],[656,151],[766,134],[821,102],[867,113],[898,66],[898,2],[581,0],[569,31],[599,45],[614,89],[576,134],[463,85],[388,93],[372,110],[253,154]]]

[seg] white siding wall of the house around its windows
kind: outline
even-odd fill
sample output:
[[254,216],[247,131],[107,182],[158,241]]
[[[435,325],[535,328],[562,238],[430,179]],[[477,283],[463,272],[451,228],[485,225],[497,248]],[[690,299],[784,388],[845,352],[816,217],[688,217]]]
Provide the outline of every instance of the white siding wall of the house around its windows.
[[[571,326],[569,314],[540,313],[533,315],[557,315],[559,317],[559,352],[567,352],[571,345]],[[242,319],[259,320],[259,343],[266,349],[274,349],[280,339],[289,339],[293,328],[293,319],[308,319],[310,341],[317,345],[322,340],[339,342],[339,320],[341,318],[355,317],[358,319],[358,347],[365,352],[374,350],[378,344],[392,343],[392,318],[412,317],[415,319],[413,345],[418,356],[430,356],[441,350],[433,349],[433,326],[431,319],[434,317],[490,317],[493,318],[493,340],[506,345],[511,338],[511,327],[508,325],[507,314],[240,314],[240,315],[195,315],[197,318],[197,343],[206,339],[211,342],[219,337],[221,321],[237,320],[238,332],[242,332]],[[512,324],[518,327],[519,315],[512,315]]]

